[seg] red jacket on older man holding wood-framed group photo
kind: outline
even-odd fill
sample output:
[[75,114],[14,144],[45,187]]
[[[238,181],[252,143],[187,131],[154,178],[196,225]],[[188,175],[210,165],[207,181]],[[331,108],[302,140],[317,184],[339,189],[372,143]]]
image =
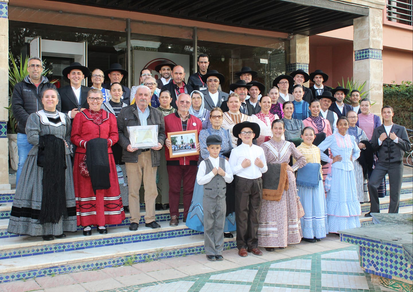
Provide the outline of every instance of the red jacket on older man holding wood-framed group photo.
[[[182,131],[182,121],[176,115],[177,115],[177,112],[171,113],[167,115],[166,117],[164,117],[166,137],[168,137],[168,133]],[[199,120],[199,118],[195,117],[194,115],[190,115],[187,121],[186,130],[198,130],[198,137],[199,137],[199,132],[201,132],[202,130],[201,120]],[[169,148],[166,148],[165,158],[166,158],[167,165],[178,165],[178,163],[176,164],[168,163],[168,161],[173,161],[173,160],[179,161],[179,165],[197,165],[199,155],[190,155],[190,156],[183,156],[183,157],[177,157],[177,158],[170,158]]]

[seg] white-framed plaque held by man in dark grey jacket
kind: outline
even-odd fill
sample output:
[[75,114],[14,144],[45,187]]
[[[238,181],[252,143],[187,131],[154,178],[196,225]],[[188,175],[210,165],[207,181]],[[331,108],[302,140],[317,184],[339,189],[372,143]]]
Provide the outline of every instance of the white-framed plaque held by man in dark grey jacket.
[[158,146],[158,125],[127,127],[132,148]]

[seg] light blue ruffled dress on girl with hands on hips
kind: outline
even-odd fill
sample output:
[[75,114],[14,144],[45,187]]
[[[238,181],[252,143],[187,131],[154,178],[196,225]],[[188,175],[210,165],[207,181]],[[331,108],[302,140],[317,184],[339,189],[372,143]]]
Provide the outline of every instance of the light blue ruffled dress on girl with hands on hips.
[[332,163],[331,172],[325,180],[328,232],[338,233],[340,230],[360,227],[358,216],[361,214],[361,207],[357,197],[354,165],[350,160],[351,155],[353,160],[360,156],[354,137],[335,133],[327,137],[318,148],[323,161],[332,162],[332,159],[323,153],[328,148],[333,156],[342,157],[341,161]]

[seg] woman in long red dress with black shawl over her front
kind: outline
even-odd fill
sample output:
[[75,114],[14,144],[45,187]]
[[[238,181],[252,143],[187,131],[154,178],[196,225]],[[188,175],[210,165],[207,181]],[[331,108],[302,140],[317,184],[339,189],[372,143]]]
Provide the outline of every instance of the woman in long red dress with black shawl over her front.
[[102,101],[102,92],[90,89],[89,108],[75,116],[72,126],[77,223],[85,236],[92,235],[91,225],[106,234],[105,225],[125,219],[112,153],[119,139],[116,117],[101,109]]

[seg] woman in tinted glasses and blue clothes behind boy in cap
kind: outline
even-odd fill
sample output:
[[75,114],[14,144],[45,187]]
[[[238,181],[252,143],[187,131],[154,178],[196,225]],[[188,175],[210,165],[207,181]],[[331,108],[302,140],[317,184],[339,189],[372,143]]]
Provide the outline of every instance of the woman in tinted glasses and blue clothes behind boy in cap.
[[[225,158],[223,153],[230,151],[233,148],[231,139],[230,139],[229,130],[225,130],[221,127],[222,115],[223,113],[222,113],[221,108],[218,108],[218,107],[213,108],[211,111],[211,115],[209,116],[211,127],[207,129],[203,129],[199,133],[199,145],[201,146],[202,159],[207,159],[209,157],[209,152],[207,150],[207,138],[210,135],[218,135],[222,139],[221,151],[219,153],[219,157]],[[229,190],[228,186],[230,186],[230,184],[227,184],[227,197],[226,197],[227,217],[225,219],[224,232],[235,231],[237,229],[235,226],[235,213],[234,213],[235,197],[233,194],[231,196],[228,193],[228,190]],[[192,202],[191,202],[191,206],[188,212],[188,217],[186,220],[186,226],[188,226],[191,229],[202,231],[202,232],[204,231],[204,222],[203,222],[204,210],[202,206],[203,195],[204,195],[204,187],[200,186],[197,183],[197,181],[195,181],[194,194],[192,196]],[[232,236],[227,235],[226,237],[232,237]]]

